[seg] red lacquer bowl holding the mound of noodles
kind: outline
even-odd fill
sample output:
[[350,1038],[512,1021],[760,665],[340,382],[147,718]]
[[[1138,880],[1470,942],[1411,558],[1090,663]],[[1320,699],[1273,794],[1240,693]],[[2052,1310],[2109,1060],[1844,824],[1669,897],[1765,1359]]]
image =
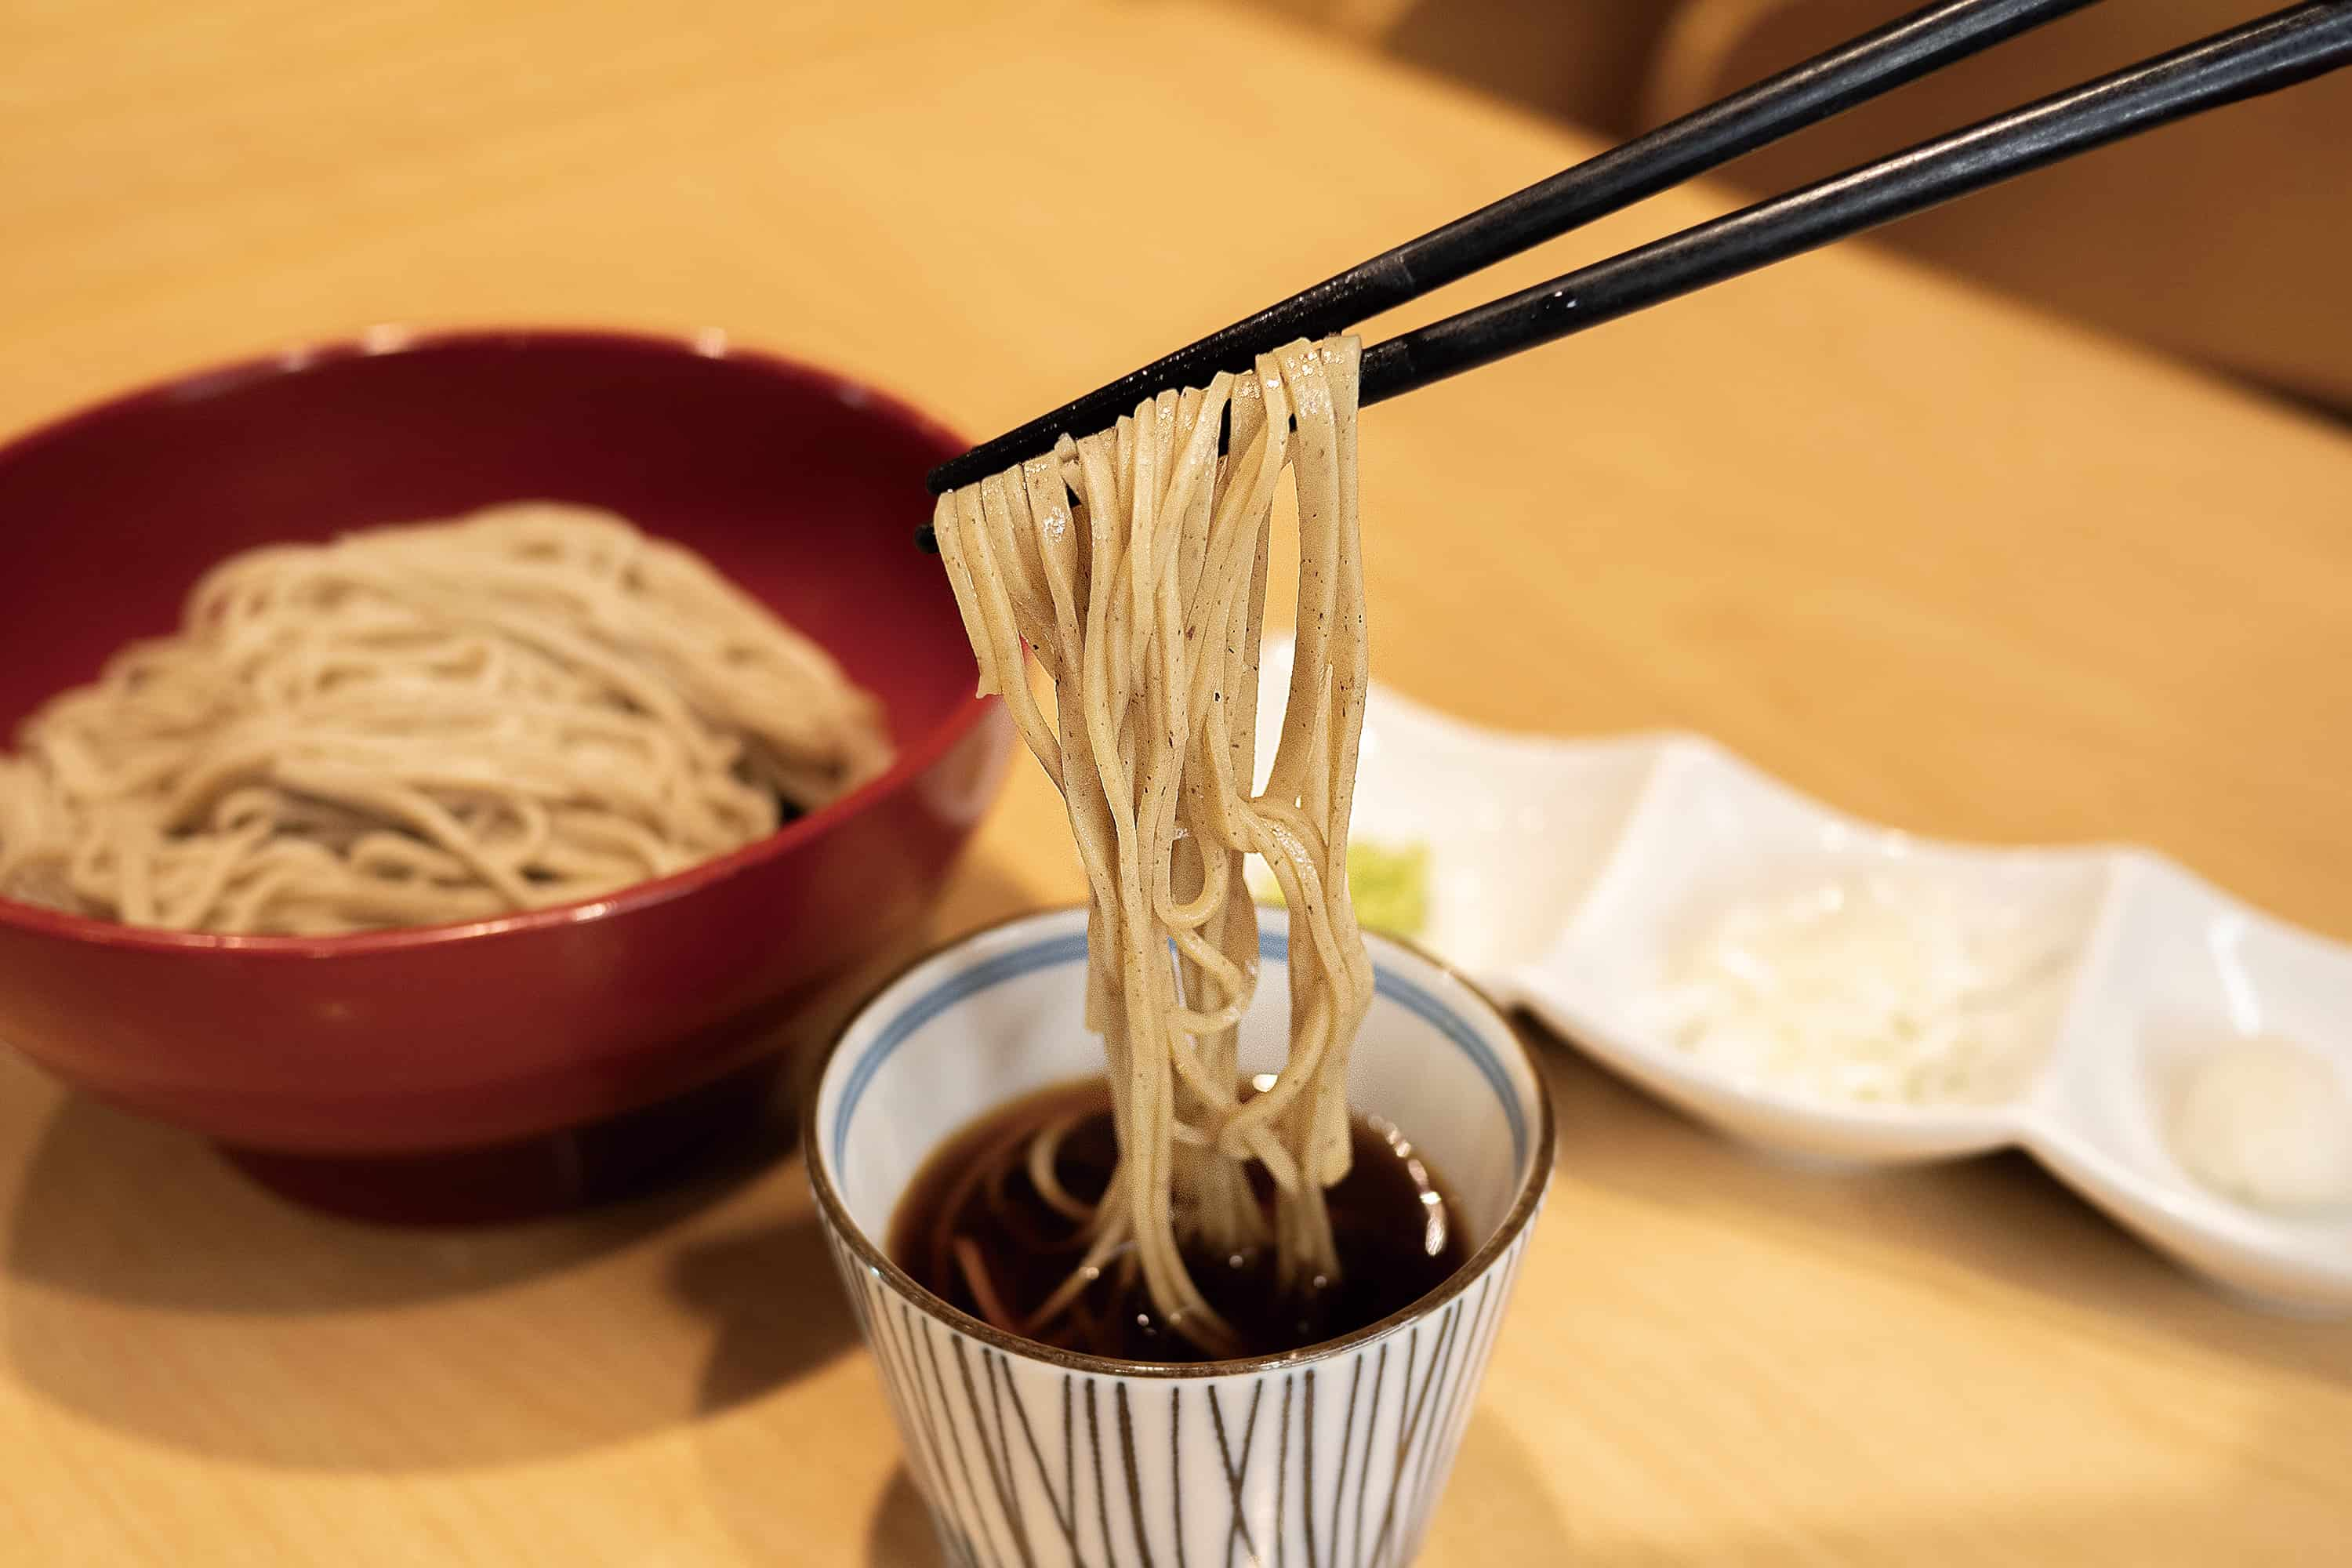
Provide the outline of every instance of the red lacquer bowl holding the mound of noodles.
[[[372,334],[134,393],[0,449],[0,733],[169,630],[247,545],[492,501],[607,505],[710,557],[877,691],[898,764],[722,860],[513,919],[327,940],[141,931],[0,900],[0,1039],[136,1112],[268,1152],[510,1145],[743,1067],[908,938],[1009,724],[938,562],[908,407],[717,343]],[[268,1161],[263,1161],[268,1164]]]

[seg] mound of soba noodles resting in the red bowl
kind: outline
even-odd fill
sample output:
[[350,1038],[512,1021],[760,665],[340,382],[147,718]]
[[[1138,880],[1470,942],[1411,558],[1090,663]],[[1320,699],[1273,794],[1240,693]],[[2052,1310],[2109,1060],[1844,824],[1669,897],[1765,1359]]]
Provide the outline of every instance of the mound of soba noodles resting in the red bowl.
[[0,757],[0,893],[343,933],[593,898],[889,766],[877,703],[699,555],[555,503],[221,562]]

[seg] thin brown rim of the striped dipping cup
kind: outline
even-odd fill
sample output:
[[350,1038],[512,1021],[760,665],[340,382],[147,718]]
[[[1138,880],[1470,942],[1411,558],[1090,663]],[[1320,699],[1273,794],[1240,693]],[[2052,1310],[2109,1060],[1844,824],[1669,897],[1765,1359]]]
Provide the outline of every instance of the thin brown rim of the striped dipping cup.
[[866,1234],[866,1227],[849,1215],[849,1206],[842,1201],[840,1190],[833,1185],[833,1173],[826,1168],[826,1154],[823,1154],[826,1145],[816,1126],[816,1105],[823,1098],[826,1077],[833,1072],[833,1063],[835,1058],[840,1058],[842,1046],[849,1041],[851,1030],[858,1027],[858,1023],[891,987],[896,987],[901,980],[906,980],[910,973],[915,973],[931,959],[946,957],[957,947],[967,947],[985,936],[995,936],[997,931],[1007,931],[1011,926],[1023,926],[1033,922],[1042,924],[1056,917],[1082,914],[1084,910],[1087,905],[1054,905],[1047,910],[1025,910],[1021,914],[1007,914],[983,926],[974,926],[971,931],[960,931],[957,936],[934,943],[931,947],[917,952],[906,964],[891,969],[877,985],[873,985],[873,990],[866,992],[866,997],[858,999],[858,1004],[849,1011],[849,1018],[842,1023],[842,1027],[835,1030],[833,1039],[826,1041],[823,1051],[816,1058],[814,1070],[809,1072],[807,1079],[809,1093],[802,1095],[802,1107],[800,1107],[802,1168],[809,1175],[809,1190],[816,1197],[816,1206],[823,1220],[842,1239],[842,1246],[847,1246],[858,1262],[875,1269],[880,1279],[884,1279],[901,1300],[913,1302],[938,1324],[967,1333],[974,1340],[981,1340],[983,1345],[990,1345],[1004,1354],[1014,1354],[1025,1361],[1044,1361],[1047,1366],[1056,1366],[1070,1373],[1091,1373],[1098,1378],[1145,1378],[1145,1380],[1254,1378],[1345,1354],[1359,1345],[1369,1345],[1371,1340],[1385,1338],[1397,1328],[1404,1328],[1414,1321],[1437,1314],[1439,1309],[1451,1305],[1458,1295],[1463,1295],[1472,1284],[1484,1279],[1486,1272],[1494,1269],[1494,1265],[1526,1232],[1529,1222],[1536,1218],[1536,1211],[1543,1206],[1543,1194],[1552,1185],[1552,1159],[1555,1159],[1555,1133],[1557,1133],[1552,1095],[1543,1077],[1543,1063],[1536,1058],[1536,1048],[1526,1041],[1526,1037],[1519,1030],[1512,1027],[1510,1013],[1503,1011],[1503,1006],[1486,992],[1486,987],[1465,976],[1461,969],[1446,964],[1442,957],[1437,957],[1421,943],[1414,943],[1411,938],[1388,936],[1385,931],[1367,931],[1364,933],[1367,945],[1388,945],[1395,947],[1397,952],[1421,959],[1437,973],[1461,985],[1470,994],[1470,999],[1477,1001],[1482,1009],[1494,1013],[1494,1020],[1519,1048],[1519,1058],[1526,1063],[1529,1077],[1536,1084],[1536,1143],[1531,1150],[1531,1159],[1526,1164],[1526,1173],[1519,1178],[1517,1192],[1512,1192],[1510,1199],[1510,1208],[1496,1222],[1494,1232],[1486,1237],[1486,1241],[1479,1244],[1475,1253],[1470,1253],[1468,1262],[1463,1262],[1458,1269],[1454,1269],[1454,1274],[1444,1279],[1444,1284],[1439,1284],[1428,1295],[1406,1302],[1397,1312],[1390,1312],[1388,1316],[1367,1324],[1352,1333],[1343,1333],[1336,1340],[1317,1340],[1315,1345],[1301,1345],[1298,1349],[1279,1349],[1263,1356],[1230,1356],[1223,1361],[1122,1361],[1117,1356],[1094,1356],[1077,1349],[1061,1349],[1058,1345],[1040,1345],[1037,1340],[1028,1340],[1016,1333],[1004,1333],[995,1324],[981,1321],[969,1312],[962,1312],[960,1307],[927,1291],[922,1284],[915,1281],[913,1274],[898,1267],[898,1262],[880,1244],[875,1244],[873,1237]]

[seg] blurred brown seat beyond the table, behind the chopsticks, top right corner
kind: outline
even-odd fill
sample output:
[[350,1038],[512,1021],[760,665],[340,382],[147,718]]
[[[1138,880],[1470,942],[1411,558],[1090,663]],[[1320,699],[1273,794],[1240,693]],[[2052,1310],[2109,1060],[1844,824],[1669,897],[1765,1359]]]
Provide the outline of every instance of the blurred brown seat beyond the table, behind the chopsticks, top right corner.
[[[1658,125],[1900,16],[1905,0],[1684,0],[1642,110]],[[1740,160],[1771,193],[1973,125],[2274,9],[2100,5]],[[2352,78],[2201,115],[1889,230],[1933,266],[2352,414]]]

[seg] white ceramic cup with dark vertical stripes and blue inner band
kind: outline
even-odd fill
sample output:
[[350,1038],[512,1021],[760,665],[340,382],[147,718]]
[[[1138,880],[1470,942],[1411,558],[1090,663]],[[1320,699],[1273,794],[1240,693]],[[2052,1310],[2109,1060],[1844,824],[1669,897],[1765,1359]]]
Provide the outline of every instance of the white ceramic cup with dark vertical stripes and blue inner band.
[[[1287,917],[1261,910],[1261,924],[1244,1072],[1282,1065],[1289,1020]],[[948,1307],[884,1255],[898,1199],[948,1135],[1101,1074],[1084,910],[964,938],[844,1030],[809,1100],[809,1178],[950,1563],[1414,1556],[1550,1180],[1552,1112],[1484,997],[1409,947],[1367,943],[1376,997],[1348,1100],[1430,1157],[1475,1248],[1404,1312],[1279,1356],[1145,1366],[1033,1345]]]

